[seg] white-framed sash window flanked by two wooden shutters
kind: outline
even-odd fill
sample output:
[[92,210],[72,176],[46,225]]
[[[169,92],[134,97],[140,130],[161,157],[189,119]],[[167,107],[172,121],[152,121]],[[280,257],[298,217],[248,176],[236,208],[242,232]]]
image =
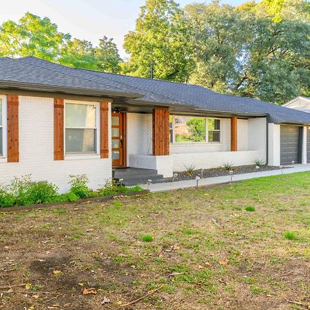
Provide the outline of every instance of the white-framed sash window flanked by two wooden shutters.
[[99,154],[99,103],[65,101],[65,154]]

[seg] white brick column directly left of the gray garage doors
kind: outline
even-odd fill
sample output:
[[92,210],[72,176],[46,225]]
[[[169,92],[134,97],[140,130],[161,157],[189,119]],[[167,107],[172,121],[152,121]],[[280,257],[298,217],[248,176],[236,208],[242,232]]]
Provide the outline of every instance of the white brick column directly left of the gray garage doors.
[[280,165],[280,125],[268,124],[268,165]]

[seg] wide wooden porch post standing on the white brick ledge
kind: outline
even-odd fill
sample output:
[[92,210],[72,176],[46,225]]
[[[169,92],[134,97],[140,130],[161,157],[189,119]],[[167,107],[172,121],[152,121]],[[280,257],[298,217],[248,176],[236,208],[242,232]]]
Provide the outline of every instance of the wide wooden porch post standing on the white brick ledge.
[[153,155],[169,155],[169,110],[153,110]]

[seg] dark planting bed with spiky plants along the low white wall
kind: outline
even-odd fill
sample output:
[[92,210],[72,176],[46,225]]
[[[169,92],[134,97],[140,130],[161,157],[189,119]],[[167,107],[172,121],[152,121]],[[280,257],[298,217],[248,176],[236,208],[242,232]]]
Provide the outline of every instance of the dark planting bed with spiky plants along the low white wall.
[[[283,167],[282,169],[285,169]],[[179,180],[191,180],[199,176],[200,178],[213,178],[215,176],[229,176],[229,171],[232,170],[234,174],[248,174],[251,172],[271,171],[280,169],[278,166],[267,166],[262,165],[256,169],[256,165],[242,165],[234,167],[218,167],[212,169],[195,169],[194,171],[188,172],[174,172],[173,178],[165,178],[166,182],[174,182]]]

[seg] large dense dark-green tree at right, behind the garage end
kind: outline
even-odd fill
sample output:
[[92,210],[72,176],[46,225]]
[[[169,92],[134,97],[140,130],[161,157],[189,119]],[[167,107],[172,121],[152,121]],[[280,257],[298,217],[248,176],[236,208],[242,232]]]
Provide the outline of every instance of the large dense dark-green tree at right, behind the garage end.
[[187,6],[196,60],[190,81],[274,103],[308,94],[310,24],[305,8],[302,0],[284,1],[282,20],[274,21],[264,3]]

